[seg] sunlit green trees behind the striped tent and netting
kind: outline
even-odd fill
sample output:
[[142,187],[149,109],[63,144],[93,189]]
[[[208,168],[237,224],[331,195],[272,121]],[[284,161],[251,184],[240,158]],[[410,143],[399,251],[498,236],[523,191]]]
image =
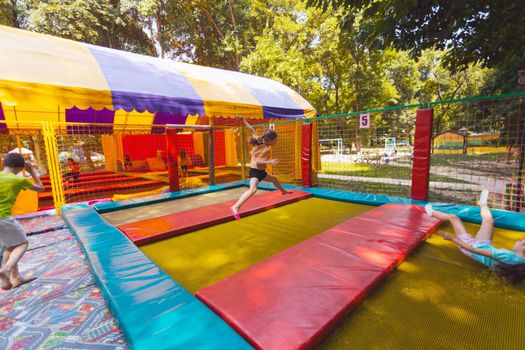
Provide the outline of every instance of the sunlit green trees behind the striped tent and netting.
[[[472,96],[491,73],[475,64],[450,72],[444,62],[453,49],[423,43],[412,52],[420,53],[416,59],[388,46],[376,18],[394,6],[388,1],[311,2],[324,6],[303,0],[0,0],[0,23],[268,77],[298,91],[322,115]],[[498,75],[491,77],[497,85]],[[457,105],[436,107],[436,133],[459,129],[462,112]],[[370,131],[348,139],[366,143],[379,128],[410,139],[414,118],[414,110],[376,114]]]

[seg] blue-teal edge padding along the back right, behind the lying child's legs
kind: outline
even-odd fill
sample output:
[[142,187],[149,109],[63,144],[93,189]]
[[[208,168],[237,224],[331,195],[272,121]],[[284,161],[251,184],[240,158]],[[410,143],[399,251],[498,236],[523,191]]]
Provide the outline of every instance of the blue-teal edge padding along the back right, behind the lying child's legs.
[[[301,191],[312,193],[314,197],[371,206],[379,206],[383,204],[416,204],[424,206],[428,203],[425,201],[385,196],[381,194],[329,190],[325,188],[297,188]],[[438,202],[431,202],[431,204],[434,207],[434,209],[448,214],[455,214],[463,221],[481,224],[481,216],[479,213],[479,207],[477,206],[474,207],[470,205],[458,205]],[[497,209],[491,209],[491,213],[494,218],[494,225],[496,227],[525,232],[525,214]]]

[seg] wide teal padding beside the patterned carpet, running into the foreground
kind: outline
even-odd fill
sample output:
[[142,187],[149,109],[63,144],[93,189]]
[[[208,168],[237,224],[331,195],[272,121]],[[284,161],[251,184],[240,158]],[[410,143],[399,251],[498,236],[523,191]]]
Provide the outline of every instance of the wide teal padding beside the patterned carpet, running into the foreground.
[[70,206],[62,215],[133,349],[252,349],[95,209]]

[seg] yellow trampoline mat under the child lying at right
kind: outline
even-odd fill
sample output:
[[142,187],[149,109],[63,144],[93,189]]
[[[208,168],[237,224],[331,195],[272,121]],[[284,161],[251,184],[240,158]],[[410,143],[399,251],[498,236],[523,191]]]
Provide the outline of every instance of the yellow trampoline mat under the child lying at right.
[[[524,236],[496,229],[494,245],[511,249]],[[525,349],[525,283],[505,284],[434,234],[320,349]]]

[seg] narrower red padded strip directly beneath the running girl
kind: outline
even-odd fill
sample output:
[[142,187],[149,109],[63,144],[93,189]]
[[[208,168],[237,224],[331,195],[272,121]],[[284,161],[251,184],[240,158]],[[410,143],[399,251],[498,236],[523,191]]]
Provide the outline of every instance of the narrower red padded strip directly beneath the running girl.
[[[263,193],[250,199],[241,209],[241,217],[260,213],[311,197],[310,193],[294,191],[282,195],[279,191]],[[136,245],[144,245],[234,220],[230,207],[236,200],[209,205],[118,226]]]

